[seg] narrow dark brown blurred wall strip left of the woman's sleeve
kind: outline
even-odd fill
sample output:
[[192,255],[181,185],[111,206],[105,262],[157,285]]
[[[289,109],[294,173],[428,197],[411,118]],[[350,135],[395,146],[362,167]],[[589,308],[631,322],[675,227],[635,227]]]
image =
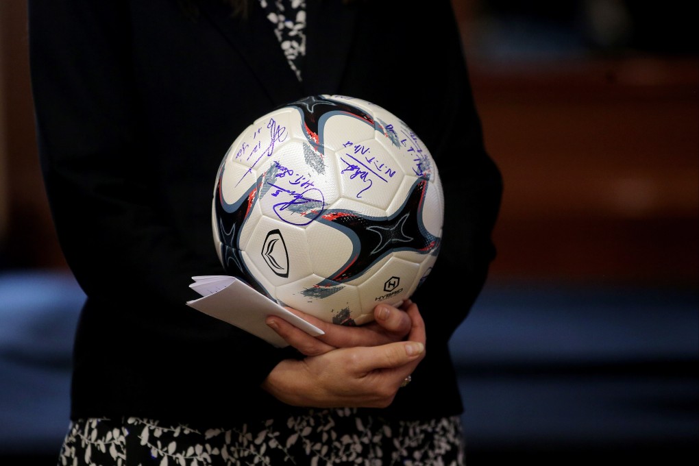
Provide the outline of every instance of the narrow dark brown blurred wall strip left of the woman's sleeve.
[[27,2],[0,1],[0,270],[64,268],[38,166]]

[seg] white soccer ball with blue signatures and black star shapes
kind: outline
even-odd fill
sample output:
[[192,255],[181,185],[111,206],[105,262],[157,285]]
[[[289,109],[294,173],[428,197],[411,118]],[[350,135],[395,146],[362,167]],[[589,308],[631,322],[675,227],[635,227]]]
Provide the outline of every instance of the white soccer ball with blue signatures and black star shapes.
[[211,215],[231,275],[282,306],[357,326],[426,279],[443,217],[420,138],[384,108],[338,95],[291,102],[240,133]]

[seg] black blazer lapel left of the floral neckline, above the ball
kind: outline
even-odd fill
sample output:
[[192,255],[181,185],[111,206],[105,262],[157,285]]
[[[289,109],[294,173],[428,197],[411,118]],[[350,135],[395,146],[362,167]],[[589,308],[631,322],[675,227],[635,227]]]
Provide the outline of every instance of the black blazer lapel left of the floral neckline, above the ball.
[[301,83],[291,71],[258,0],[251,1],[250,15],[245,20],[232,17],[230,6],[219,0],[201,1],[199,6],[202,15],[243,57],[275,105],[298,99],[303,92]]

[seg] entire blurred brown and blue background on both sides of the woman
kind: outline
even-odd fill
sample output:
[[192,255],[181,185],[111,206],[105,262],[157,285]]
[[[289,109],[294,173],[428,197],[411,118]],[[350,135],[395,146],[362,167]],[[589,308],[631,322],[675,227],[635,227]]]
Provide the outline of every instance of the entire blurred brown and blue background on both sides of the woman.
[[[498,258],[452,340],[468,463],[695,464],[696,15],[453,3],[505,179]],[[0,0],[0,463],[52,465],[83,295],[41,184],[26,20],[25,0]]]

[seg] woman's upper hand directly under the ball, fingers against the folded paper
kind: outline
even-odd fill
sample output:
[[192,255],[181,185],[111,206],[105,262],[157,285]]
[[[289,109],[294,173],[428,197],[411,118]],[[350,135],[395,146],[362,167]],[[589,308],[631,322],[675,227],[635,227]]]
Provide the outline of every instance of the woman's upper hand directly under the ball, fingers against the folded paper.
[[374,308],[374,321],[359,327],[329,323],[287,307],[289,312],[293,312],[325,332],[318,337],[308,335],[280,317],[269,316],[266,323],[305,356],[319,356],[336,348],[375,347],[404,340],[412,327],[412,321],[408,315],[408,309],[411,306],[416,305],[410,300],[406,300],[400,309],[385,304],[377,305]]

